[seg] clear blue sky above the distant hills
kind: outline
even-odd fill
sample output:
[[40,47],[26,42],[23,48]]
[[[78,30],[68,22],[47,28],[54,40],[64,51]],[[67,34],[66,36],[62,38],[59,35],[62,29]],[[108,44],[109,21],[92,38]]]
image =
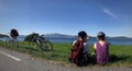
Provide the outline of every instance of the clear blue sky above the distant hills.
[[132,0],[0,0],[0,33],[132,37]]

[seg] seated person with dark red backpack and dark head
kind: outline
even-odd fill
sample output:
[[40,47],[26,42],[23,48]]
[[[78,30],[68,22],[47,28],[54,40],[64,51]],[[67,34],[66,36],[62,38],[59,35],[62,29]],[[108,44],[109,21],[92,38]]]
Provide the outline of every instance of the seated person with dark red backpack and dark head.
[[78,33],[78,39],[73,43],[70,62],[77,66],[84,66],[88,63],[89,48],[87,44],[87,33],[81,31]]

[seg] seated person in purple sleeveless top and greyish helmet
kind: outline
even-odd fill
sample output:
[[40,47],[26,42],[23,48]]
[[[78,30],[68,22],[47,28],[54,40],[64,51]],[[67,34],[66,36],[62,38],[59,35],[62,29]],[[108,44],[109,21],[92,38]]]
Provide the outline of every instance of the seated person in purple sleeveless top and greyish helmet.
[[106,42],[106,34],[99,32],[97,34],[98,42],[95,43],[96,59],[98,64],[106,64],[110,61],[109,59],[109,43]]

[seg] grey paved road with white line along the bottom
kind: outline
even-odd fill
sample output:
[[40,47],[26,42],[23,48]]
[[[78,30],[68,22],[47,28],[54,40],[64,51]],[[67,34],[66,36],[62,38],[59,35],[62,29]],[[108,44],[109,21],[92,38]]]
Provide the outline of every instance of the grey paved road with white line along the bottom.
[[0,47],[0,71],[132,71],[132,68],[69,68]]

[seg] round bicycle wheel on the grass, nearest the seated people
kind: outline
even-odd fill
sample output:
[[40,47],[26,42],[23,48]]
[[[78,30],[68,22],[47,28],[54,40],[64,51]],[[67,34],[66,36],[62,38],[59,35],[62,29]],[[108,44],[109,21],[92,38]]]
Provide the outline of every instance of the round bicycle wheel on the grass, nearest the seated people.
[[50,40],[44,40],[40,47],[43,51],[53,51],[53,45]]

